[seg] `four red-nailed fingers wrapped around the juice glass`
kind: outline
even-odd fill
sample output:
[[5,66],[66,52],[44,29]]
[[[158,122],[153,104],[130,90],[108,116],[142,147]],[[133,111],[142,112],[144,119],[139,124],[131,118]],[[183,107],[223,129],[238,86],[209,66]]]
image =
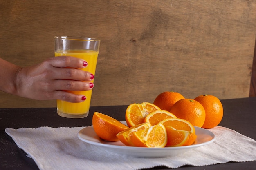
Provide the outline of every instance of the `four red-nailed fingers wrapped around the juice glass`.
[[78,68],[85,68],[88,63],[79,58],[70,56],[53,57],[45,60],[44,64],[50,71],[46,77],[51,77],[51,91],[53,91],[54,99],[60,99],[67,102],[83,102],[86,97],[77,95],[68,91],[88,91],[92,90],[94,84],[90,81],[94,79],[94,75],[88,71]]

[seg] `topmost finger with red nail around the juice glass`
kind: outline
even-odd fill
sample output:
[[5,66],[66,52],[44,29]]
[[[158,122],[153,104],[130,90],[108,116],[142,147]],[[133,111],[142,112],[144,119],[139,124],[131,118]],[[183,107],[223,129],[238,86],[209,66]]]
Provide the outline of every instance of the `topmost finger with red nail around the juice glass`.
[[52,57],[46,60],[54,67],[65,68],[85,68],[88,63],[80,58],[70,57],[70,56],[60,56],[60,57]]

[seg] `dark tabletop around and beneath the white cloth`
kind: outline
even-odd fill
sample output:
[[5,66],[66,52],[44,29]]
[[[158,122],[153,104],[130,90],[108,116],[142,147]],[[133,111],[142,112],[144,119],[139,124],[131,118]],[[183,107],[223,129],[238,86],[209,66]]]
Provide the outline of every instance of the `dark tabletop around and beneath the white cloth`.
[[[221,100],[224,116],[219,126],[224,126],[256,140],[256,97]],[[33,159],[15,144],[5,128],[78,127],[92,125],[94,111],[125,120],[127,106],[94,106],[89,116],[69,119],[57,115],[56,108],[0,108],[0,170],[38,170]],[[164,166],[152,168],[165,170]],[[245,170],[256,169],[256,161],[229,162],[211,166],[182,166],[179,170]]]

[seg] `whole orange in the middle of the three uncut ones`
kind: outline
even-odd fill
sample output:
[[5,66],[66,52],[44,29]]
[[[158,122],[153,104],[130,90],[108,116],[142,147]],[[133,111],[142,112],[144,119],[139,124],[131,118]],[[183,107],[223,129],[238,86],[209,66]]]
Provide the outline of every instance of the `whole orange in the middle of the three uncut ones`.
[[205,121],[205,110],[202,104],[193,99],[181,99],[170,110],[177,118],[189,121],[193,126],[202,127]]

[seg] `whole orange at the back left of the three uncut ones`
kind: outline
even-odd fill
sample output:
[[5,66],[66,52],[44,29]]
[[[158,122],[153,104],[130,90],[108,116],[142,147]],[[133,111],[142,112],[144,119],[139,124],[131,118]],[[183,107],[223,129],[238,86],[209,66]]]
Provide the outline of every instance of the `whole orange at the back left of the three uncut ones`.
[[166,91],[160,93],[154,100],[153,104],[157,105],[162,110],[169,111],[173,104],[180,99],[184,99],[184,96],[177,92]]

